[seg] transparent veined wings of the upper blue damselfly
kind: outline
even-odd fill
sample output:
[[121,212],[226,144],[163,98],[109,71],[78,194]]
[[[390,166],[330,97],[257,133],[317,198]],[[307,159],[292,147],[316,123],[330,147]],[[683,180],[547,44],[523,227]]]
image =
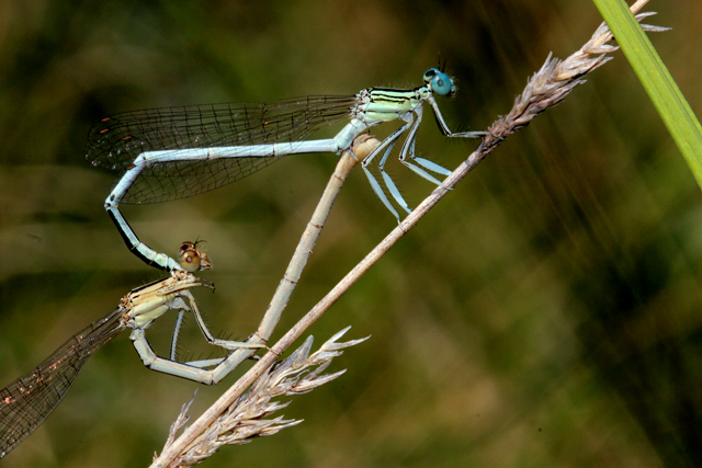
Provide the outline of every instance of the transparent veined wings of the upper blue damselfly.
[[[305,96],[126,112],[92,127],[86,158],[93,165],[124,171],[144,151],[186,155],[193,148],[301,141],[322,126],[349,119],[355,103],[355,96]],[[141,171],[122,203],[193,196],[238,181],[278,159],[156,162]]]

